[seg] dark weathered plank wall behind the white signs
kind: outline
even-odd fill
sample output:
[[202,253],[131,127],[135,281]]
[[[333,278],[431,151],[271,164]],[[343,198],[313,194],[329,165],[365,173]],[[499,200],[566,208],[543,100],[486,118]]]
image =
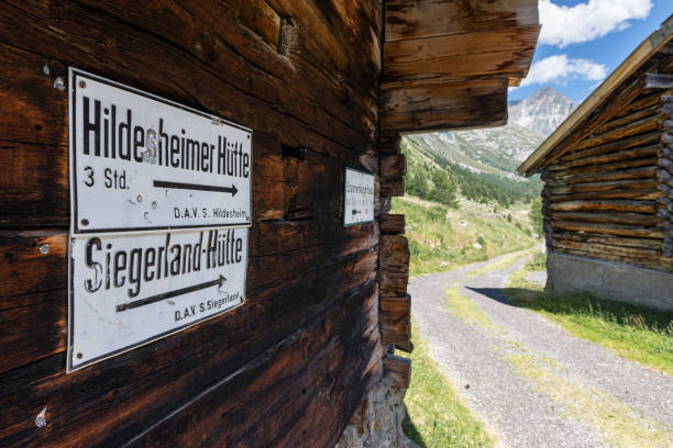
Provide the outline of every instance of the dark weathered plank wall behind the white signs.
[[[378,222],[341,225],[343,168],[378,172],[382,23],[377,0],[0,3],[0,446],[336,441],[383,370]],[[66,376],[70,65],[253,128],[254,224],[244,306]]]

